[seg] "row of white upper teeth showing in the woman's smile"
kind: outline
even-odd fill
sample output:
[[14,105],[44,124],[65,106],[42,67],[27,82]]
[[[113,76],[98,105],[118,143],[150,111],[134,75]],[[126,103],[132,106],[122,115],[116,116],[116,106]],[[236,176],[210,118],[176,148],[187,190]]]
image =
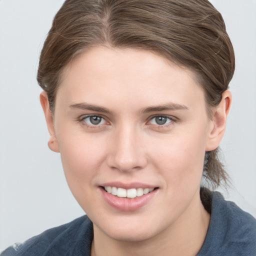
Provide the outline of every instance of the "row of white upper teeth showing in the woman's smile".
[[153,188],[130,188],[125,189],[122,187],[115,187],[115,186],[104,186],[104,189],[111,193],[112,195],[117,195],[118,197],[127,197],[127,198],[135,198],[137,196],[141,196],[143,194],[147,194],[153,191]]

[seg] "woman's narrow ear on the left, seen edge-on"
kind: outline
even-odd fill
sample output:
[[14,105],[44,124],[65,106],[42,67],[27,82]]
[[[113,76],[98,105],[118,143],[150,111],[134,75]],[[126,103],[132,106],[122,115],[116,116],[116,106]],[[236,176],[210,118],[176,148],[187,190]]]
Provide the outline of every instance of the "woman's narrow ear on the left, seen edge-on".
[[59,152],[58,142],[55,136],[53,117],[51,114],[51,110],[49,108],[48,96],[45,91],[42,91],[40,93],[40,103],[44,112],[47,128],[50,134],[48,147],[54,152]]

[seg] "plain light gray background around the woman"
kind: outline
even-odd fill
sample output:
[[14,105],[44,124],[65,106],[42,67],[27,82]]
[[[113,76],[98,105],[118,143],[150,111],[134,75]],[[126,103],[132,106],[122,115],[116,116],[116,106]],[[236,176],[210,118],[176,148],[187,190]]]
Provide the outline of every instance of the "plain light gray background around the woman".
[[[38,95],[36,67],[62,0],[0,0],[0,250],[83,214],[62,173]],[[233,187],[225,197],[256,216],[256,0],[211,0],[236,55],[222,142]]]

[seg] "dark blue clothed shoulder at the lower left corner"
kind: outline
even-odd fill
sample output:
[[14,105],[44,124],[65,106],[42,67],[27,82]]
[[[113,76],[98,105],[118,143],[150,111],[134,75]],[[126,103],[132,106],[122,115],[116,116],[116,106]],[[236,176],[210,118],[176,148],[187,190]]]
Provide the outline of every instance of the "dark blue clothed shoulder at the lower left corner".
[[69,223],[50,228],[24,243],[16,243],[5,249],[0,256],[79,256],[84,255],[84,248],[86,247],[89,255],[93,236],[92,230],[91,221],[84,215]]

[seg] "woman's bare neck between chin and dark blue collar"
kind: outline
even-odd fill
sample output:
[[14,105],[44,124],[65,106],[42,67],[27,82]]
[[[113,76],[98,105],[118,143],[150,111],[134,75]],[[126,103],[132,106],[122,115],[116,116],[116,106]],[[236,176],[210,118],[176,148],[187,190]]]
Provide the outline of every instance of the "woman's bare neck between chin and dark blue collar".
[[146,240],[120,241],[112,239],[93,225],[94,238],[91,256],[194,256],[203,244],[209,220],[210,215],[204,209],[198,193],[197,200],[193,200],[171,226]]

